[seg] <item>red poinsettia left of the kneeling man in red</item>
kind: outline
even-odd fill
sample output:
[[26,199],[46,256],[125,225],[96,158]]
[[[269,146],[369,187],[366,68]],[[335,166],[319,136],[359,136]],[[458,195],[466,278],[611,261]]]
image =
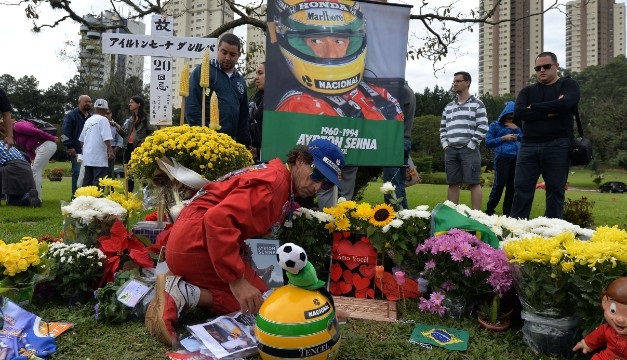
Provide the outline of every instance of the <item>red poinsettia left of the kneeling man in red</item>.
[[127,232],[120,220],[115,220],[109,236],[101,236],[98,242],[100,242],[100,251],[107,256],[104,273],[98,287],[113,281],[113,275],[120,269],[122,261],[126,258],[130,258],[140,267],[155,266],[148,248],[132,232]]

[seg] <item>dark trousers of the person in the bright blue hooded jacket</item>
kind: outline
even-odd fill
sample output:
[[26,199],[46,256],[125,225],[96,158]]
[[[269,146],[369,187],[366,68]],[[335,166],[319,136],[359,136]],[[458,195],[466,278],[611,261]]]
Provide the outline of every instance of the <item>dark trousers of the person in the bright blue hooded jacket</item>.
[[505,199],[503,200],[503,215],[509,216],[512,212],[512,202],[514,201],[514,176],[516,174],[516,158],[496,155],[494,157],[494,183],[488,198],[486,214],[494,214],[494,210],[501,201],[503,189],[505,189]]

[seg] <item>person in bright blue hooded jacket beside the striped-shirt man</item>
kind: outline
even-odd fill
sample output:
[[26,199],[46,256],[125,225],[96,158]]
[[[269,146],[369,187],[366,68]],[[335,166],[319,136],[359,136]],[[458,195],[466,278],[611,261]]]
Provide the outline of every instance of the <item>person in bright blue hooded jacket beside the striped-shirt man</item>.
[[488,198],[486,214],[494,214],[494,209],[501,201],[503,189],[503,215],[509,216],[514,200],[514,174],[516,157],[520,149],[522,131],[520,123],[514,119],[514,102],[508,101],[499,118],[490,124],[485,137],[485,144],[494,149],[494,182]]

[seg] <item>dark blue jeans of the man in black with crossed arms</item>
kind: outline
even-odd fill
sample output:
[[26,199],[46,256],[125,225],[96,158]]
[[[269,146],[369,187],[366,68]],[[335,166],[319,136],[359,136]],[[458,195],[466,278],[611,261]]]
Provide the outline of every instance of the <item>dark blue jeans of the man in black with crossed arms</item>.
[[543,143],[522,143],[516,161],[511,217],[529,218],[540,175],[546,184],[544,216],[558,219],[564,216],[564,186],[568,180],[569,149],[568,138]]

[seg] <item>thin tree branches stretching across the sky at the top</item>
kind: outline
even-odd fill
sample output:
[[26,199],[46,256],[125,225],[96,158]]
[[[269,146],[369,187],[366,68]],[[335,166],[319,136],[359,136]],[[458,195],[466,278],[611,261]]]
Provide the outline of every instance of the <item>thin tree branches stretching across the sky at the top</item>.
[[[99,24],[88,21],[86,15],[79,14],[74,9],[71,0],[8,0],[10,2],[4,5],[22,5],[26,4],[26,16],[33,21],[33,31],[39,32],[45,28],[53,28],[63,21],[75,21],[95,31],[105,31],[107,29],[123,27],[121,24]],[[221,34],[240,25],[252,25],[263,29],[267,29],[266,23],[262,20],[263,14],[260,13],[262,0],[218,0],[226,4],[239,18],[229,21],[222,26],[209,32],[207,37],[219,37]],[[141,19],[150,14],[171,14],[175,17],[184,13],[191,12],[186,9],[182,13],[171,13],[168,11],[168,1],[162,0],[111,0],[112,11],[121,19]],[[418,2],[412,8],[410,20],[419,21],[424,28],[424,35],[415,35],[413,41],[410,41],[408,58],[425,58],[431,60],[434,64],[442,60],[449,53],[451,46],[455,44],[459,36],[466,31],[473,31],[472,26],[479,23],[497,25],[505,22],[513,22],[524,18],[541,15],[552,9],[560,9],[565,5],[558,4],[558,0],[553,0],[552,4],[539,13],[530,13],[518,19],[498,19],[494,20],[492,16],[496,13],[501,0],[495,1],[492,7],[481,8],[478,10],[458,11],[456,6],[461,0],[448,2],[447,5],[439,5],[438,2],[422,1]],[[431,4],[430,4],[431,3]],[[40,19],[38,7],[47,4],[58,14],[53,19]],[[125,14],[125,15],[123,15]],[[93,14],[91,14],[93,15]],[[451,24],[458,24],[458,27],[452,27]],[[418,45],[420,44],[420,45]],[[434,69],[435,70],[435,69]]]

